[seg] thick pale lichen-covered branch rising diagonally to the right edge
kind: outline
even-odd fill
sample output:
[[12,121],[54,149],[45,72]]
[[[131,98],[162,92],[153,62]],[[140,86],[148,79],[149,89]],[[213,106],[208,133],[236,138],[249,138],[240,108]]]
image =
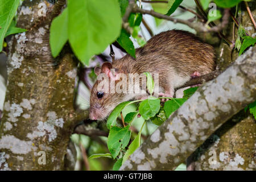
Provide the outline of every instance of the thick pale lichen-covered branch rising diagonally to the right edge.
[[215,130],[256,100],[256,47],[201,86],[123,163],[121,170],[174,170]]

